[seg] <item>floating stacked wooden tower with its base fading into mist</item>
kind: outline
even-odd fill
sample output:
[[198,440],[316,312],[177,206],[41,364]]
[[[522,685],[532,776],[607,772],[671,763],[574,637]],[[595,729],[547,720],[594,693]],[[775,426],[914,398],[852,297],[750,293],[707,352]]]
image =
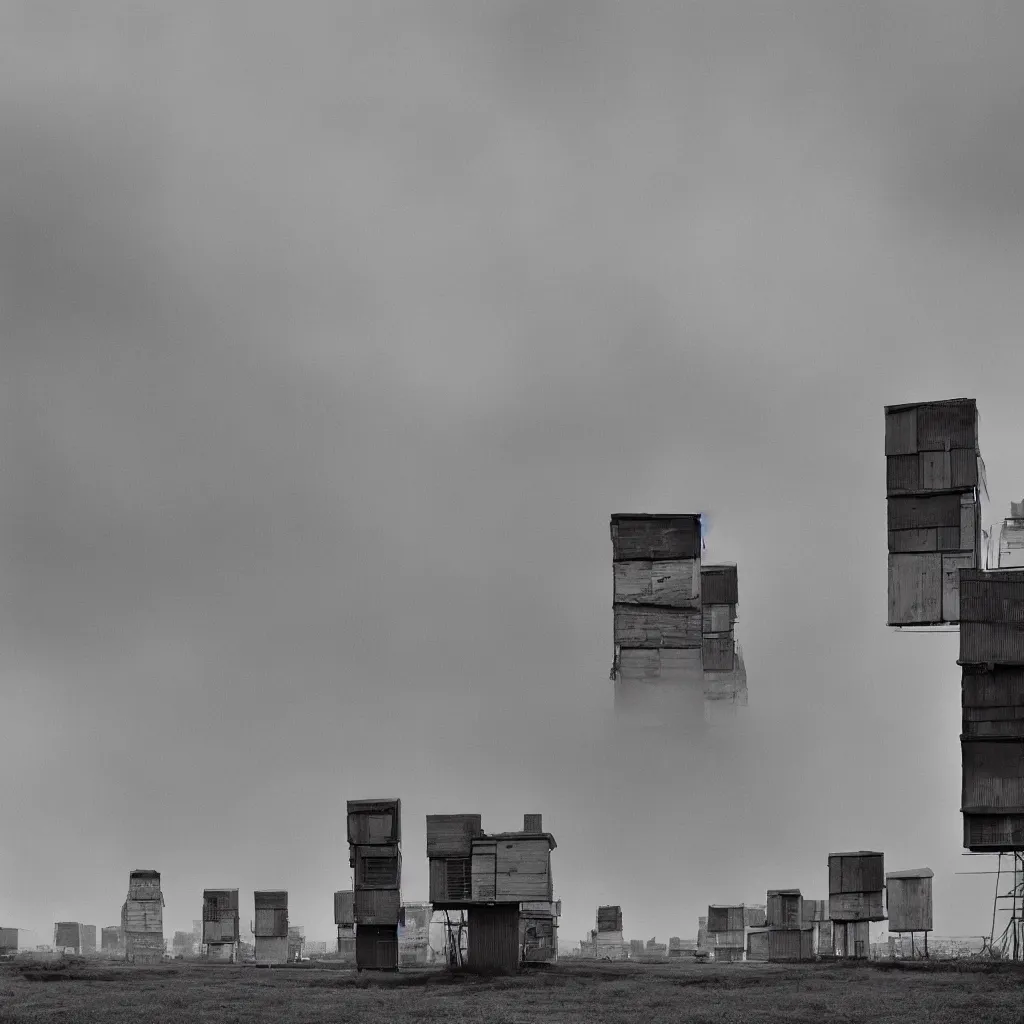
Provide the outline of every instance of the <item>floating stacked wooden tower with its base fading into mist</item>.
[[615,707],[702,722],[746,703],[734,565],[700,564],[699,515],[611,517]]

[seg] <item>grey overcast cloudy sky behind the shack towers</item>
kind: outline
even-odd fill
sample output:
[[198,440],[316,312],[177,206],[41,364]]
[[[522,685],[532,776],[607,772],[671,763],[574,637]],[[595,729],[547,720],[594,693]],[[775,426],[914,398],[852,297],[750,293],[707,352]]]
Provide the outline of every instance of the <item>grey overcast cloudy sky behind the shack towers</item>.
[[[0,924],[163,872],[333,933],[345,801],[542,812],[562,939],[962,853],[955,633],[886,627],[883,406],[1024,495],[1024,8],[0,7]],[[610,723],[621,511],[706,512],[750,708]]]

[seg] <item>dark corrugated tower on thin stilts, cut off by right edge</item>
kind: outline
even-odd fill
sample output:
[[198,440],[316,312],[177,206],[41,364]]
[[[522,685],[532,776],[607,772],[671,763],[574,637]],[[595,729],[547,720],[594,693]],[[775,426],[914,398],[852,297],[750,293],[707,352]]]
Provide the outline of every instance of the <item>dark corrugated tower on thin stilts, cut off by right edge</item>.
[[1024,572],[961,573],[964,846],[1024,847]]

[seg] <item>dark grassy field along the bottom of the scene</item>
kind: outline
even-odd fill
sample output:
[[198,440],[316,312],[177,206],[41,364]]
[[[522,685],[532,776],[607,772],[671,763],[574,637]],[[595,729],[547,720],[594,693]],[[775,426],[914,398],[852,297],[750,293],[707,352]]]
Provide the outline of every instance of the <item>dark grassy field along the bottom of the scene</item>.
[[0,967],[5,1022],[286,1022],[345,1024],[759,1024],[1024,1020],[1024,970],[1012,964],[560,963],[515,977],[441,970],[357,975],[315,965],[260,969],[176,963],[155,968]]

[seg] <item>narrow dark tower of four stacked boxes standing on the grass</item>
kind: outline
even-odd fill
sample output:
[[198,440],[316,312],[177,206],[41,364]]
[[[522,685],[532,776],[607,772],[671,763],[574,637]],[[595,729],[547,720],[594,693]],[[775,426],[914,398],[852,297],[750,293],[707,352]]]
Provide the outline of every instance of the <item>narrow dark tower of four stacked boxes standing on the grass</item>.
[[354,871],[355,967],[398,969],[401,801],[348,802],[348,864]]

